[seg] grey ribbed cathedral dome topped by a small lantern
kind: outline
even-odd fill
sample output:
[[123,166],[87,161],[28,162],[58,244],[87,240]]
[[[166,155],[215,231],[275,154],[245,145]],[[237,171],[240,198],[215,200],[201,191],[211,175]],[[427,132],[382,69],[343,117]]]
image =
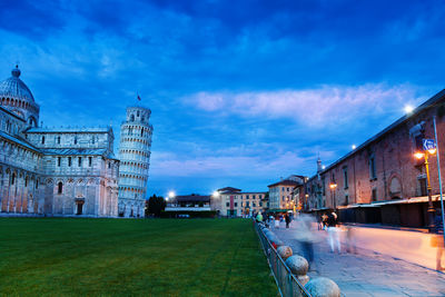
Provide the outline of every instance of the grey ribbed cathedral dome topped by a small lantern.
[[24,82],[19,78],[20,69],[16,66],[11,71],[12,77],[0,82],[0,98],[16,99],[34,102],[34,98]]

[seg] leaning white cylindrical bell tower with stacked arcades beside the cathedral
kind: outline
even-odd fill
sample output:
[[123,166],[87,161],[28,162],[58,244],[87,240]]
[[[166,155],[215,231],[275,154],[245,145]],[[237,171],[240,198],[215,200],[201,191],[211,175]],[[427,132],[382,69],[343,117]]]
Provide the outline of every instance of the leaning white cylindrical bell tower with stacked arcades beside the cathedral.
[[128,107],[127,119],[120,126],[120,217],[144,217],[152,135],[150,115],[148,108]]

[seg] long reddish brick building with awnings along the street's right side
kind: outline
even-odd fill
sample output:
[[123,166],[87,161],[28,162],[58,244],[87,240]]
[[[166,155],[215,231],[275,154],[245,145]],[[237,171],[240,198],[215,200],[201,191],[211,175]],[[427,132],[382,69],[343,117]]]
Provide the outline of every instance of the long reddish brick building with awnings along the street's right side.
[[[414,152],[423,138],[434,139],[436,118],[441,170],[445,174],[445,90],[417,107],[356,149],[322,169],[305,185],[306,210],[338,209],[343,221],[427,225],[424,159]],[[434,206],[438,207],[438,172],[429,156]]]

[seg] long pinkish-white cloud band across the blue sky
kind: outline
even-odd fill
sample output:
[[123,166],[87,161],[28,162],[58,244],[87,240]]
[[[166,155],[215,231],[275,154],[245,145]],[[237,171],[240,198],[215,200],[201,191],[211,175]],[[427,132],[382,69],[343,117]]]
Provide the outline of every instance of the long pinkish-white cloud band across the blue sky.
[[402,116],[405,103],[425,100],[417,93],[418,89],[411,85],[369,83],[306,90],[198,92],[185,98],[185,102],[226,116],[290,118],[306,126],[325,126],[357,120],[369,113]]

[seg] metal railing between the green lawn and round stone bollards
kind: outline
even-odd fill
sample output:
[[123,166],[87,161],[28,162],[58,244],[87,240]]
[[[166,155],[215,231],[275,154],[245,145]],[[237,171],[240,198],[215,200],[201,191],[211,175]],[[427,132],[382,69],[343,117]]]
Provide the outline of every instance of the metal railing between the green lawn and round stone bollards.
[[261,228],[259,228],[257,222],[255,222],[255,229],[258,234],[259,241],[261,242],[263,250],[267,257],[270,270],[274,274],[279,294],[284,297],[312,297],[305,287],[298,281],[295,275],[291,274],[290,269],[286,266],[285,261],[278,255],[277,250],[274,248]]

